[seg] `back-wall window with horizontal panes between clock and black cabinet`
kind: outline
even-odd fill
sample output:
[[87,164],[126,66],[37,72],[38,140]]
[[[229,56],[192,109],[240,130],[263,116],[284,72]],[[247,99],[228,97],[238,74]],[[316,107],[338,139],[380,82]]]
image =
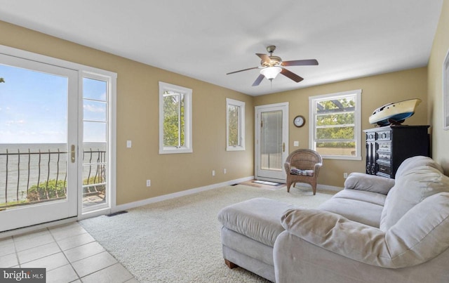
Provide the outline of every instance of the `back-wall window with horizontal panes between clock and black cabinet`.
[[361,89],[309,98],[310,147],[328,159],[361,160]]

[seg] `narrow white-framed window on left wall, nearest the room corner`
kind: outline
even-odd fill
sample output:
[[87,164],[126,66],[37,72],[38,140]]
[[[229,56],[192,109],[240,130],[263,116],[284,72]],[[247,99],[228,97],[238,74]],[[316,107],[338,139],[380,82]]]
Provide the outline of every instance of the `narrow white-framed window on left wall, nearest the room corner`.
[[226,98],[226,150],[245,150],[245,103]]

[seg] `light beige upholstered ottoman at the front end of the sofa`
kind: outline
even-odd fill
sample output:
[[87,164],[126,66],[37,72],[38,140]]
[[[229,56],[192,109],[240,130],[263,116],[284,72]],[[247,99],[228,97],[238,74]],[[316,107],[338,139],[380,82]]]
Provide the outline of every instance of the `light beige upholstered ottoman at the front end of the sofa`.
[[223,258],[274,282],[273,246],[283,228],[281,216],[293,205],[258,197],[232,204],[218,213]]

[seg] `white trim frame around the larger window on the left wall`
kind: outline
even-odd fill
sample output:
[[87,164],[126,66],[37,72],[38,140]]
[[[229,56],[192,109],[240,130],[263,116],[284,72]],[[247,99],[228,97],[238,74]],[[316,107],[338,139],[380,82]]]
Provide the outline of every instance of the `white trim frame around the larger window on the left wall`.
[[[163,93],[174,91],[184,94],[185,146],[163,146]],[[159,154],[191,153],[192,147],[192,89],[159,81]]]

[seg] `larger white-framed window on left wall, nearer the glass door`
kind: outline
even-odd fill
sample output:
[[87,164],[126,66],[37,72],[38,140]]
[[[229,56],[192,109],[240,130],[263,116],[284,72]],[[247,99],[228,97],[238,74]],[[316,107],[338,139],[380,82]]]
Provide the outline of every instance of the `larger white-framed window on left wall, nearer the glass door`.
[[192,89],[159,81],[159,153],[192,152]]

